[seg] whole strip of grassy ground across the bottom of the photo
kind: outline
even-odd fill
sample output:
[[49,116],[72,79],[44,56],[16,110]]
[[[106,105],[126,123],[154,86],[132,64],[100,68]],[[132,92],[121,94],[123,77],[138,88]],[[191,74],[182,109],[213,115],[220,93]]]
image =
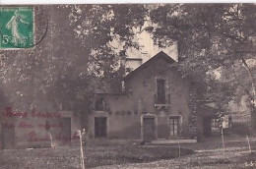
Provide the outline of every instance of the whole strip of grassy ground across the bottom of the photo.
[[[250,142],[255,151],[256,139],[250,138]],[[225,138],[225,159],[220,137],[181,147],[184,156],[177,157],[177,144],[93,141],[84,151],[86,168],[256,168],[256,154],[249,152],[245,137]],[[0,168],[80,168],[80,148],[4,149],[0,151]]]

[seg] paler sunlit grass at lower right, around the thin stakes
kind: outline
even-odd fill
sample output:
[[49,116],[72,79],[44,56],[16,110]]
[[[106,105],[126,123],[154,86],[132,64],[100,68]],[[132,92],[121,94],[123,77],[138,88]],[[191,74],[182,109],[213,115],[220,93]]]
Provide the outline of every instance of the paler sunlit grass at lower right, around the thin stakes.
[[[221,137],[209,138],[198,143],[184,143],[182,147],[195,150],[196,153],[180,158],[159,160],[149,163],[132,163],[111,166],[99,166],[97,169],[255,169],[256,138],[250,138],[253,153],[249,152],[245,137],[225,138],[225,159]],[[169,144],[169,146],[173,146]]]

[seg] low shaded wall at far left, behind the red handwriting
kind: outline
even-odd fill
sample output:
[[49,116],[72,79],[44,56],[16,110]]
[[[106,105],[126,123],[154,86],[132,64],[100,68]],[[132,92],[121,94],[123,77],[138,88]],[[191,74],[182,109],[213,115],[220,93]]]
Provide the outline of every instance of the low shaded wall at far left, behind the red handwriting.
[[2,111],[2,148],[70,145],[79,141],[80,120],[73,112]]

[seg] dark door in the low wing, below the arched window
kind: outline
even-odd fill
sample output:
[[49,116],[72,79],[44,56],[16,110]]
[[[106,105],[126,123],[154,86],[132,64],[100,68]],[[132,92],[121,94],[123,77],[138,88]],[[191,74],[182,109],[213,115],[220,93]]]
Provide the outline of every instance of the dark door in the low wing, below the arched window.
[[106,138],[106,117],[95,118],[95,138]]

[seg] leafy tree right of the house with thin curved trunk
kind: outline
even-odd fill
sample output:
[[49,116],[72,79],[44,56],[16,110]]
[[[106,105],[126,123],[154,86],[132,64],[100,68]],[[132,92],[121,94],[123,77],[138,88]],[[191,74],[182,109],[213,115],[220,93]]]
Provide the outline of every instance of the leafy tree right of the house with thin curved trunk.
[[[255,4],[166,4],[151,12],[152,21],[159,25],[155,42],[178,42],[179,67],[184,74],[210,86],[206,74],[210,70],[233,69],[236,61],[244,65],[251,79],[246,91],[252,117],[256,114],[255,84],[248,62],[255,55],[255,11]],[[211,93],[214,91],[212,88]],[[216,94],[208,95],[213,99]],[[255,118],[252,122],[256,127]]]

